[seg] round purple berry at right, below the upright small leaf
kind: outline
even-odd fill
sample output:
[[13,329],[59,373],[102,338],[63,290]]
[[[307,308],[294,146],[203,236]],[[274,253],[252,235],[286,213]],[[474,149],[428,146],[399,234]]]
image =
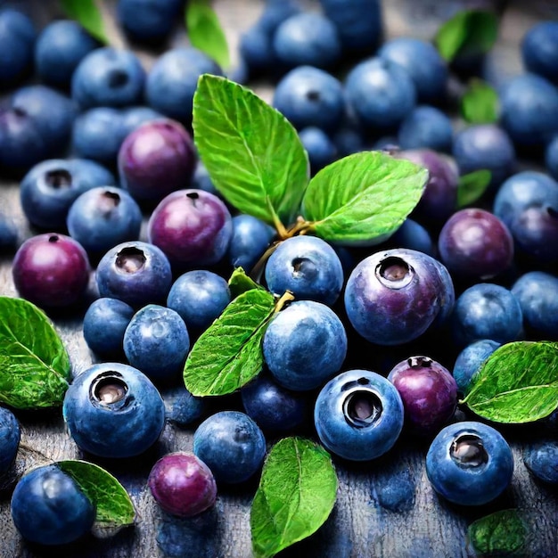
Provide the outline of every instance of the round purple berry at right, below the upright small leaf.
[[442,262],[450,273],[487,280],[500,275],[513,262],[513,236],[504,221],[486,209],[456,211],[438,237]]

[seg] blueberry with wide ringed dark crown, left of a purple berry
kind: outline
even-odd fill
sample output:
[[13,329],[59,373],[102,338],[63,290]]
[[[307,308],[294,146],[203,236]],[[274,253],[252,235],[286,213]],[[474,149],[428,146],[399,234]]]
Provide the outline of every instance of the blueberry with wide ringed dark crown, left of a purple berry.
[[349,370],[327,382],[316,398],[314,423],[329,451],[350,461],[387,453],[403,428],[403,402],[379,373]]

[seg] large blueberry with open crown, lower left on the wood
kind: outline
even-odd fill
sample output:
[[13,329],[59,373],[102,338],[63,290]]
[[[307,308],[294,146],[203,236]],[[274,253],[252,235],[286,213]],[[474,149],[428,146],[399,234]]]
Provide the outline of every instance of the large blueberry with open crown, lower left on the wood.
[[107,458],[144,453],[165,425],[165,405],[151,380],[112,362],[78,374],[66,390],[62,414],[81,450]]

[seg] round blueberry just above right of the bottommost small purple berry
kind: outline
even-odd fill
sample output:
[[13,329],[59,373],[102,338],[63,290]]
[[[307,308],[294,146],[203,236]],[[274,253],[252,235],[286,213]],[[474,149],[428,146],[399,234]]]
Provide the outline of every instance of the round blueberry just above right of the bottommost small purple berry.
[[193,453],[209,466],[217,484],[238,484],[260,469],[266,439],[248,414],[219,411],[194,431]]

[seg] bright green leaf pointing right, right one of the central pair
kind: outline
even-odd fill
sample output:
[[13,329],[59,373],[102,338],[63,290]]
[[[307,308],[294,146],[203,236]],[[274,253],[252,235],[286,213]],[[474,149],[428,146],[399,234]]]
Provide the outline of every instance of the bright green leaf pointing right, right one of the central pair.
[[339,244],[382,242],[423,195],[426,168],[379,151],[357,152],[322,168],[302,201],[316,236]]

